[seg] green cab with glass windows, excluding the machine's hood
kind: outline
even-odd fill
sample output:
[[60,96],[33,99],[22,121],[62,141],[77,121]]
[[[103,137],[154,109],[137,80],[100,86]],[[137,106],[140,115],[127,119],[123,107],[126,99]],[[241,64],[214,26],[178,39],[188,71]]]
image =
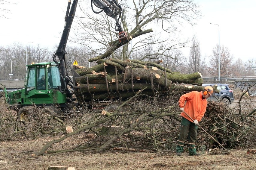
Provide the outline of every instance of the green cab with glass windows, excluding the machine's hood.
[[[59,104],[66,102],[66,94],[58,91],[61,86],[56,63],[37,63],[28,66],[25,103]],[[38,102],[38,103],[37,103]]]

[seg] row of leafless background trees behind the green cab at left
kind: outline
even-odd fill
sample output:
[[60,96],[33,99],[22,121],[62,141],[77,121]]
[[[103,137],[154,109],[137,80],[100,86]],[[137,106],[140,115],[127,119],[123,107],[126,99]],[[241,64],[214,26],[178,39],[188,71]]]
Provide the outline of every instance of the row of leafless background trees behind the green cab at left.
[[[73,64],[77,60],[78,64],[88,66],[88,51],[81,47],[66,48],[68,63]],[[26,54],[27,53],[27,54]],[[0,47],[0,80],[9,80],[12,69],[12,79],[21,79],[26,76],[26,62],[28,64],[39,62],[51,62],[53,49],[37,46],[23,46],[19,42],[6,47]],[[8,58],[8,59],[7,59]],[[26,61],[27,58],[27,61]]]

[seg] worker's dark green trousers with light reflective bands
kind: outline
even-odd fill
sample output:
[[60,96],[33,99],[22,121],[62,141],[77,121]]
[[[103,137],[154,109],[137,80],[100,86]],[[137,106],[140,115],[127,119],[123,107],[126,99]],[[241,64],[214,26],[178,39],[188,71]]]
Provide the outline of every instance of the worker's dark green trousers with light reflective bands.
[[181,132],[176,148],[177,152],[183,152],[184,142],[188,133],[189,154],[196,153],[197,125],[182,117]]

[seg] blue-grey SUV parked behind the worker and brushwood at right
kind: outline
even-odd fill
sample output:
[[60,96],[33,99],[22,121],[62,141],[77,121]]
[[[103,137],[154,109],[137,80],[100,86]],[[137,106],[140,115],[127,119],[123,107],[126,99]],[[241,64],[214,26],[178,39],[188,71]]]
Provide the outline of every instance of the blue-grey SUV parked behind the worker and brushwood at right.
[[[214,86],[216,84],[202,84],[202,86]],[[210,96],[208,101],[222,101],[226,106],[235,101],[233,97],[233,90],[231,90],[228,84],[217,84],[217,89],[220,93],[215,93],[215,97]]]

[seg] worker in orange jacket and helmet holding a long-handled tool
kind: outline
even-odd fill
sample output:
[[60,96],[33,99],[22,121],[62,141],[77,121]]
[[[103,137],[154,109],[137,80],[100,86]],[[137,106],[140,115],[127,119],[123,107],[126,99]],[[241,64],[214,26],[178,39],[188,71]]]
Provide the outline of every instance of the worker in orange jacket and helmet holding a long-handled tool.
[[[176,148],[176,154],[182,156],[184,142],[188,133],[189,155],[200,155],[196,152],[197,124],[206,112],[207,98],[213,94],[211,86],[206,86],[203,91],[192,91],[182,95],[179,99],[181,110],[181,132]],[[194,121],[192,121],[187,113]]]

